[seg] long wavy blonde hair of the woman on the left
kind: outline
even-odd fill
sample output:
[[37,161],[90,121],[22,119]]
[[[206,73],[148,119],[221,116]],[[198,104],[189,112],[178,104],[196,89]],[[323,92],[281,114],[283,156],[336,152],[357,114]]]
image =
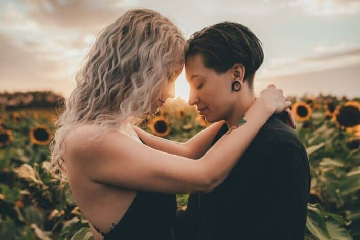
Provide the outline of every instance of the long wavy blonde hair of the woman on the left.
[[97,35],[76,73],[72,91],[55,122],[46,170],[68,182],[64,169],[64,140],[74,126],[93,123],[101,141],[109,128],[138,124],[151,113],[161,90],[182,70],[187,42],[167,18],[149,9],[133,9]]

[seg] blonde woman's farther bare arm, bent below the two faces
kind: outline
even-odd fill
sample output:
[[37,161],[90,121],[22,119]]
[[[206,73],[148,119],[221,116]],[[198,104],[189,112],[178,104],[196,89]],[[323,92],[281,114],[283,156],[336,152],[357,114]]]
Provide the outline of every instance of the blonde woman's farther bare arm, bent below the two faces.
[[212,140],[224,123],[225,121],[215,122],[184,143],[156,137],[139,127],[134,127],[134,130],[139,138],[151,148],[168,152],[169,154],[198,159],[209,150]]

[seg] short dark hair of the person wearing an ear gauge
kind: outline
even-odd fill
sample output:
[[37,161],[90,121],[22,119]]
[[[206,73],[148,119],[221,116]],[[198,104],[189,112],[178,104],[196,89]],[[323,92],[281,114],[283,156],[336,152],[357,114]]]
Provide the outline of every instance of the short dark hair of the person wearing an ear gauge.
[[244,80],[252,87],[254,74],[264,60],[261,45],[246,26],[224,21],[192,34],[185,57],[201,54],[204,66],[216,73],[224,73],[235,63],[241,63],[245,67]]

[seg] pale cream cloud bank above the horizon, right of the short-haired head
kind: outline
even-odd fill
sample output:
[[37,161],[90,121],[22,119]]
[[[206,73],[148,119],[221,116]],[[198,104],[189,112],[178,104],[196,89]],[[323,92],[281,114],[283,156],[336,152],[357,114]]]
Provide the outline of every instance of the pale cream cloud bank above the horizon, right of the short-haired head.
[[[341,51],[339,49],[342,49]],[[328,50],[327,53],[323,51]],[[321,54],[319,54],[319,52]],[[278,59],[264,66],[254,84],[265,88],[274,83],[284,95],[304,93],[358,97],[360,80],[360,47],[327,46],[317,55],[299,59]]]

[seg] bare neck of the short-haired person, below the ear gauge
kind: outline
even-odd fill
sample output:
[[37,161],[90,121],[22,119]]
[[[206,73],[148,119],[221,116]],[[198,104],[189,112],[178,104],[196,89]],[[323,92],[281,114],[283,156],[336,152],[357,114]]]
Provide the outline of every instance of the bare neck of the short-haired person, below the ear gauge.
[[236,99],[234,106],[230,110],[230,114],[226,119],[224,119],[228,125],[228,128],[236,126],[237,122],[245,115],[245,112],[250,108],[256,99],[253,90],[242,90],[247,91]]

